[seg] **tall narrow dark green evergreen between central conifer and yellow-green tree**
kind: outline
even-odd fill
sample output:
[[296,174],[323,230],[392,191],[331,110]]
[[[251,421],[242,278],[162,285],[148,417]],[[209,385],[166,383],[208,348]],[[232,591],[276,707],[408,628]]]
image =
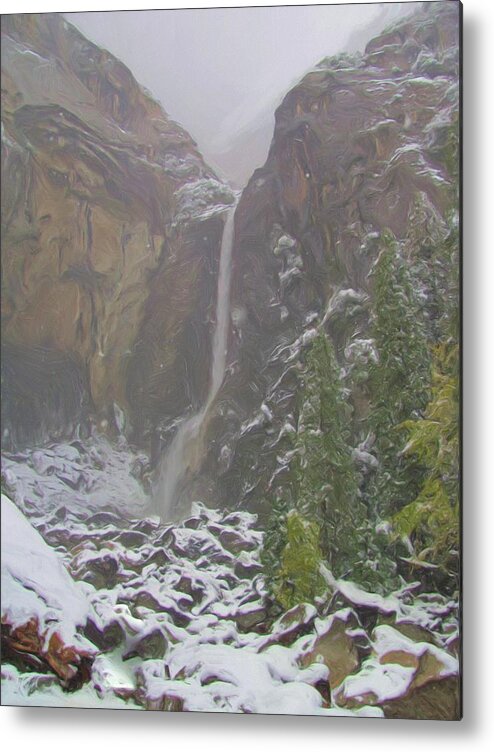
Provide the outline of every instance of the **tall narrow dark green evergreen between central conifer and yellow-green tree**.
[[390,231],[382,233],[371,276],[372,335],[379,357],[369,369],[369,426],[380,465],[367,495],[373,513],[386,517],[416,497],[423,478],[417,458],[400,451],[400,426],[420,417],[427,405],[430,355],[412,276]]

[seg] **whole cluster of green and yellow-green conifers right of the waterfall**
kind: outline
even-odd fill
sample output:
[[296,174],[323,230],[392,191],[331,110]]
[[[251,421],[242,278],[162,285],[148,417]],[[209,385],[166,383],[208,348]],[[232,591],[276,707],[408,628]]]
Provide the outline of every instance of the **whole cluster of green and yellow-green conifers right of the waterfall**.
[[369,275],[373,356],[359,382],[369,413],[357,429],[371,437],[374,460],[362,475],[356,423],[322,327],[300,356],[296,430],[284,439],[288,473],[274,491],[263,552],[268,592],[282,608],[317,599],[322,562],[375,591],[403,584],[403,561],[415,578],[423,562],[427,576],[441,573],[439,587],[455,587],[458,234],[444,224],[428,244],[425,259],[413,238],[400,244],[381,233]]

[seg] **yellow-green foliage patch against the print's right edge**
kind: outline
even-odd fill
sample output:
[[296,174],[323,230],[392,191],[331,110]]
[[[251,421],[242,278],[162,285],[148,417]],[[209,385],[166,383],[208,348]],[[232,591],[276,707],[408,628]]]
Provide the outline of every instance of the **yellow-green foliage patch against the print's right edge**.
[[432,399],[420,420],[409,420],[405,452],[426,468],[417,498],[392,523],[397,535],[413,539],[418,558],[447,566],[459,541],[458,499],[458,346],[440,345],[435,353]]

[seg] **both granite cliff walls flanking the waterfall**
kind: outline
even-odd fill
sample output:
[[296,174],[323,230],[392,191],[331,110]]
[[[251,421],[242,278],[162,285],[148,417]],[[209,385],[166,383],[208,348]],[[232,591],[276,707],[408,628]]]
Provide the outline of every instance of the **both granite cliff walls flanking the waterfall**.
[[[2,32],[4,445],[96,421],[156,464],[207,400],[234,196],[128,69],[60,16],[6,17]],[[458,66],[457,5],[424,4],[286,95],[235,213],[226,374],[184,457],[184,497],[265,508],[315,327],[350,373],[369,357],[382,233],[410,256],[448,236]],[[368,395],[347,392],[357,446]]]

